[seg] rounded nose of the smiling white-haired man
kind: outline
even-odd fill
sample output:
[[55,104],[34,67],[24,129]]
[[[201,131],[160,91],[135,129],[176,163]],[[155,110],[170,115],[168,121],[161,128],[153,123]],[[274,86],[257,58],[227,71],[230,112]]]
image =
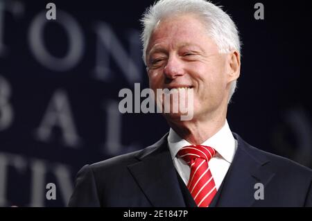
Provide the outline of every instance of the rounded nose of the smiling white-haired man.
[[164,75],[166,78],[170,79],[175,79],[177,76],[183,76],[184,69],[182,61],[176,56],[169,57],[166,67],[164,67]]

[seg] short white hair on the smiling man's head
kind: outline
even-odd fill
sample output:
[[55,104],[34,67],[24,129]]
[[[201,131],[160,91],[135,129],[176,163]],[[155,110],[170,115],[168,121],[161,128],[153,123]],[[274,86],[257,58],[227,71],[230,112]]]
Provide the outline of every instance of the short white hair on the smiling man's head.
[[[143,60],[146,64],[146,48],[158,21],[166,17],[180,14],[197,15],[207,26],[208,35],[216,42],[219,53],[229,53],[233,49],[241,55],[241,42],[239,31],[234,21],[220,7],[205,0],[159,0],[144,12],[141,19],[143,31],[141,41],[143,43]],[[229,101],[236,89],[236,80],[231,84]]]

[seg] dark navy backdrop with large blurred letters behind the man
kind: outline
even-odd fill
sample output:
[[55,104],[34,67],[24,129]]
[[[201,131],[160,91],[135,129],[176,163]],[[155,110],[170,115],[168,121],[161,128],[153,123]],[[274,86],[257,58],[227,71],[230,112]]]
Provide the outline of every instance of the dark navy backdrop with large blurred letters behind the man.
[[[49,2],[56,21],[45,18]],[[229,126],[248,143],[312,168],[309,1],[261,1],[263,20],[254,19],[258,1],[213,2],[232,16],[243,42]],[[0,206],[65,206],[83,165],[168,132],[159,114],[118,110],[120,89],[148,87],[139,19],[150,3],[0,1]],[[31,33],[40,21],[38,40]],[[79,39],[70,65],[64,60]],[[56,200],[46,200],[48,183]]]

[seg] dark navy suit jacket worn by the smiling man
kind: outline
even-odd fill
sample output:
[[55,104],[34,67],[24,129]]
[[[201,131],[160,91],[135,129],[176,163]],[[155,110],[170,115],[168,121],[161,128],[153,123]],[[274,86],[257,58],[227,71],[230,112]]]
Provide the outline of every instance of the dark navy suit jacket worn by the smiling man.
[[[84,166],[69,206],[189,205],[167,136],[143,150]],[[215,206],[312,206],[312,170],[234,137],[238,148]],[[264,186],[263,200],[254,197],[256,183]]]

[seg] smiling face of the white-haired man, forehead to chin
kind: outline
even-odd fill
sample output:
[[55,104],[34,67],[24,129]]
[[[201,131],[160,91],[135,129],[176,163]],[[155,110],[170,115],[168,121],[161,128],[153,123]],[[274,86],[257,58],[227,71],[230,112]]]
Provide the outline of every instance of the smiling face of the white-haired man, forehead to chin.
[[194,15],[159,21],[146,50],[150,88],[155,94],[157,89],[193,89],[195,119],[222,111],[227,107],[229,83],[235,79],[231,56],[218,51]]

